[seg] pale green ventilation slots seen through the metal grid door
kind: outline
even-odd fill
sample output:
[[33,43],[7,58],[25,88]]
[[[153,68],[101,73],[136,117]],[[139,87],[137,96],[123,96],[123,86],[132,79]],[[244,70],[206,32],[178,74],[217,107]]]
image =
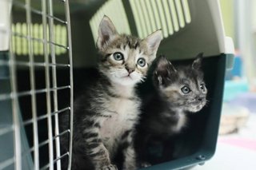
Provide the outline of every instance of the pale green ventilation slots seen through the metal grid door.
[[[49,28],[49,26],[47,26]],[[33,54],[34,55],[43,55],[43,26],[42,24],[33,24],[32,25],[32,37],[27,36],[27,25],[26,23],[15,23],[12,25],[12,32],[14,33],[13,38],[13,52],[17,55],[28,55],[29,53],[29,44],[28,39],[32,40],[33,45]],[[48,49],[50,49],[50,44],[54,44],[55,54],[60,55],[66,53],[67,49],[67,34],[66,26],[54,25],[54,42],[49,41],[49,30],[47,30],[47,40]],[[50,50],[49,50],[50,53]]]

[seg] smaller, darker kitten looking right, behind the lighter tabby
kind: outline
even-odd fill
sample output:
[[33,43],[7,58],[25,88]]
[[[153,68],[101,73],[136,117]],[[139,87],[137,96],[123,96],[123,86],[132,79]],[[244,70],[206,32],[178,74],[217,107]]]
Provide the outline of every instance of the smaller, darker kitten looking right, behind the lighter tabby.
[[164,143],[181,132],[186,126],[186,113],[196,113],[206,105],[207,89],[201,63],[202,53],[192,65],[176,68],[166,57],[158,59],[153,75],[155,91],[142,106],[142,118],[135,137],[142,166],[148,165],[147,150],[154,140]]

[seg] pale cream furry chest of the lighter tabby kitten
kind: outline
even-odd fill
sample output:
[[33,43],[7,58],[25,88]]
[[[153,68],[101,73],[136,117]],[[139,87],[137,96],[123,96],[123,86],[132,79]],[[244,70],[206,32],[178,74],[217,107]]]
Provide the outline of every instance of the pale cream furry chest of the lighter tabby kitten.
[[100,129],[103,140],[111,140],[122,135],[132,128],[138,119],[138,101],[114,98],[107,101],[104,115],[108,116],[102,121]]

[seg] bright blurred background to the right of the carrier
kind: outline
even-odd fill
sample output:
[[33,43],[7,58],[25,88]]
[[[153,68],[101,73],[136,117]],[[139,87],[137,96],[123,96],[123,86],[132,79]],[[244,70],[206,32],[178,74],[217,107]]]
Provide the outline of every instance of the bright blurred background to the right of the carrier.
[[234,68],[226,83],[217,151],[196,169],[256,167],[256,1],[220,0],[226,36],[234,40]]

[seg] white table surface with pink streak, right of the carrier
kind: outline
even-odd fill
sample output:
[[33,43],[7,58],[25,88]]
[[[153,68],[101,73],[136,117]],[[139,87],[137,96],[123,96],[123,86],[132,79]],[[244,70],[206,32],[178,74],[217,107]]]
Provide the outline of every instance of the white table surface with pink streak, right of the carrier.
[[256,113],[238,133],[219,136],[214,157],[193,170],[256,169]]

